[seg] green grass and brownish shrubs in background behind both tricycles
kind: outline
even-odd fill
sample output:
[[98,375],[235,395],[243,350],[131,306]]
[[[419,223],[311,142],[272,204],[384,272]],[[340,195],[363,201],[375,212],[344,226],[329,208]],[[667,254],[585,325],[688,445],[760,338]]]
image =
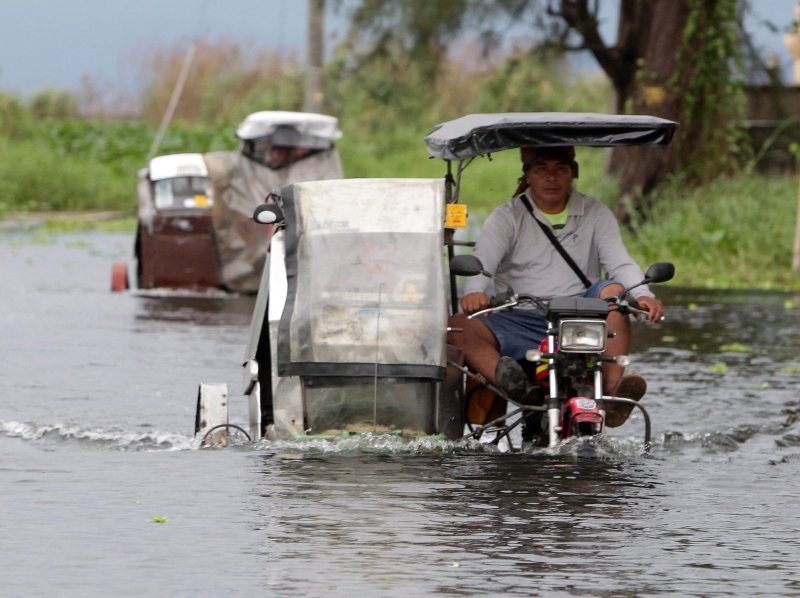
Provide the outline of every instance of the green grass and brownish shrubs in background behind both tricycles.
[[[302,110],[302,73],[291,61],[247,56],[227,45],[198,49],[159,154],[235,149],[234,130],[247,114]],[[132,230],[136,172],[145,166],[182,59],[177,51],[153,57],[136,119],[87,113],[80,98],[61,92],[28,101],[0,94],[0,218],[110,210],[127,216]],[[578,76],[557,54],[533,60],[519,49],[491,63],[465,47],[432,89],[413,63],[389,55],[359,69],[346,55],[335,56],[326,81],[326,112],[344,132],[338,148],[348,177],[442,176],[444,164],[427,158],[423,137],[437,122],[465,113],[613,110],[605,78]],[[617,181],[604,174],[608,157],[580,148],[578,187],[615,208]],[[643,265],[674,261],[683,286],[800,290],[789,267],[798,182],[748,172],[693,188],[669,180],[624,229],[632,254]],[[469,166],[462,201],[473,224],[510,195],[518,176],[515,152]]]

